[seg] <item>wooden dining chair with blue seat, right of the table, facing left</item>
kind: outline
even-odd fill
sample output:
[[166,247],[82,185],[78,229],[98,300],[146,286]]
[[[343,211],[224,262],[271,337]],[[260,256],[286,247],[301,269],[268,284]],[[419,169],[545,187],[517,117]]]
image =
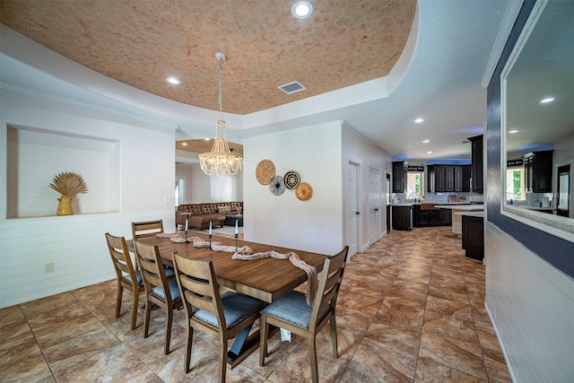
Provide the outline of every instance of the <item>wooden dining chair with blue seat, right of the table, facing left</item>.
[[296,335],[307,338],[309,360],[311,362],[311,379],[314,383],[318,382],[316,337],[317,333],[327,322],[331,324],[333,356],[335,358],[339,357],[335,308],[348,252],[349,247],[345,246],[340,253],[326,258],[317,287],[317,295],[313,300],[312,306],[307,304],[304,293],[292,291],[261,310],[261,318],[259,318],[261,331],[259,365],[265,365],[269,325],[284,328]]

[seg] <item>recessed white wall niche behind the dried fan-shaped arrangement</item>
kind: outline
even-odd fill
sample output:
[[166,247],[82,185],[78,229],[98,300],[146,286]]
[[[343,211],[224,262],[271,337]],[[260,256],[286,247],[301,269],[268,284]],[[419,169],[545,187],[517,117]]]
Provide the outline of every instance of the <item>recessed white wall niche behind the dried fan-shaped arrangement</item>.
[[119,212],[118,141],[10,124],[6,132],[6,219],[57,215],[49,184],[64,171],[88,185],[74,197],[74,215]]

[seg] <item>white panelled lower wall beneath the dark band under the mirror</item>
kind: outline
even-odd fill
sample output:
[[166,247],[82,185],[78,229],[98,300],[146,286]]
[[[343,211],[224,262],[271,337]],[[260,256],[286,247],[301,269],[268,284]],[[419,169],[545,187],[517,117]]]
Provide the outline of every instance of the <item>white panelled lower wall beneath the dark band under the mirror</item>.
[[574,381],[574,280],[486,222],[486,306],[514,381]]

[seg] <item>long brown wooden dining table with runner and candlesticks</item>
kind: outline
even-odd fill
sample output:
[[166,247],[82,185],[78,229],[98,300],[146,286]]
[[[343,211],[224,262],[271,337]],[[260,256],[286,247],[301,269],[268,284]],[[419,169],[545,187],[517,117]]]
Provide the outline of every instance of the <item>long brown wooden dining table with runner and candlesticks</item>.
[[[192,238],[188,238],[188,243],[180,240],[183,238],[182,233],[176,233],[178,240],[171,240],[165,234],[156,237],[147,237],[137,239],[141,243],[154,245],[158,247],[161,260],[164,265],[173,266],[173,254],[187,257],[190,259],[200,259],[213,262],[213,271],[222,290],[238,292],[248,295],[258,300],[264,300],[271,303],[278,300],[283,295],[291,292],[300,284],[307,281],[307,274],[302,269],[294,266],[288,259],[278,259],[274,257],[263,257],[251,260],[232,259],[233,252],[214,251],[211,248],[196,248],[193,245]],[[291,248],[282,248],[274,245],[268,245],[257,242],[245,241],[242,239],[230,239],[219,237],[217,235],[209,236],[208,234],[196,234],[194,237],[209,241],[214,248],[215,244],[228,246],[231,248],[242,248],[248,246],[254,253],[266,253],[275,251],[280,254],[289,254],[294,252],[301,260],[308,265],[317,268],[317,273],[323,269],[326,255],[302,251]],[[133,250],[134,246],[128,241],[128,247]],[[245,359],[249,353],[257,349],[259,345],[259,331],[249,334],[251,326],[242,331],[233,341],[228,352],[228,365],[230,368],[235,367],[240,361]]]

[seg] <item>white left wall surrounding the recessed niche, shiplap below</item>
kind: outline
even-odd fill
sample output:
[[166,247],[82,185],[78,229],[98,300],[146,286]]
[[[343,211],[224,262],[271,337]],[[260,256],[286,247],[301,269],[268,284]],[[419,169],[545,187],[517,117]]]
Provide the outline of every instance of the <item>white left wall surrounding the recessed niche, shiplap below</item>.
[[[0,152],[3,154],[8,125],[87,135],[117,142],[120,146],[116,170],[120,184],[117,188],[119,213],[58,217],[54,209],[52,216],[6,219],[6,187],[2,182],[1,307],[114,278],[104,238],[108,231],[130,238],[131,222],[157,218],[163,219],[168,230],[174,227],[173,128],[107,115],[74,101],[39,99],[6,90],[2,90],[1,98]],[[36,160],[48,162],[50,158]],[[6,179],[5,155],[0,156],[0,165],[0,179]],[[45,168],[34,166],[33,162],[24,166],[27,169],[22,169],[22,173],[30,178],[54,176],[52,170],[49,175],[43,174]],[[93,189],[98,190],[95,186]],[[91,196],[95,196],[95,192]],[[166,202],[166,198],[171,200]],[[44,206],[41,210],[44,211]],[[48,263],[54,264],[53,273],[45,273]]]

